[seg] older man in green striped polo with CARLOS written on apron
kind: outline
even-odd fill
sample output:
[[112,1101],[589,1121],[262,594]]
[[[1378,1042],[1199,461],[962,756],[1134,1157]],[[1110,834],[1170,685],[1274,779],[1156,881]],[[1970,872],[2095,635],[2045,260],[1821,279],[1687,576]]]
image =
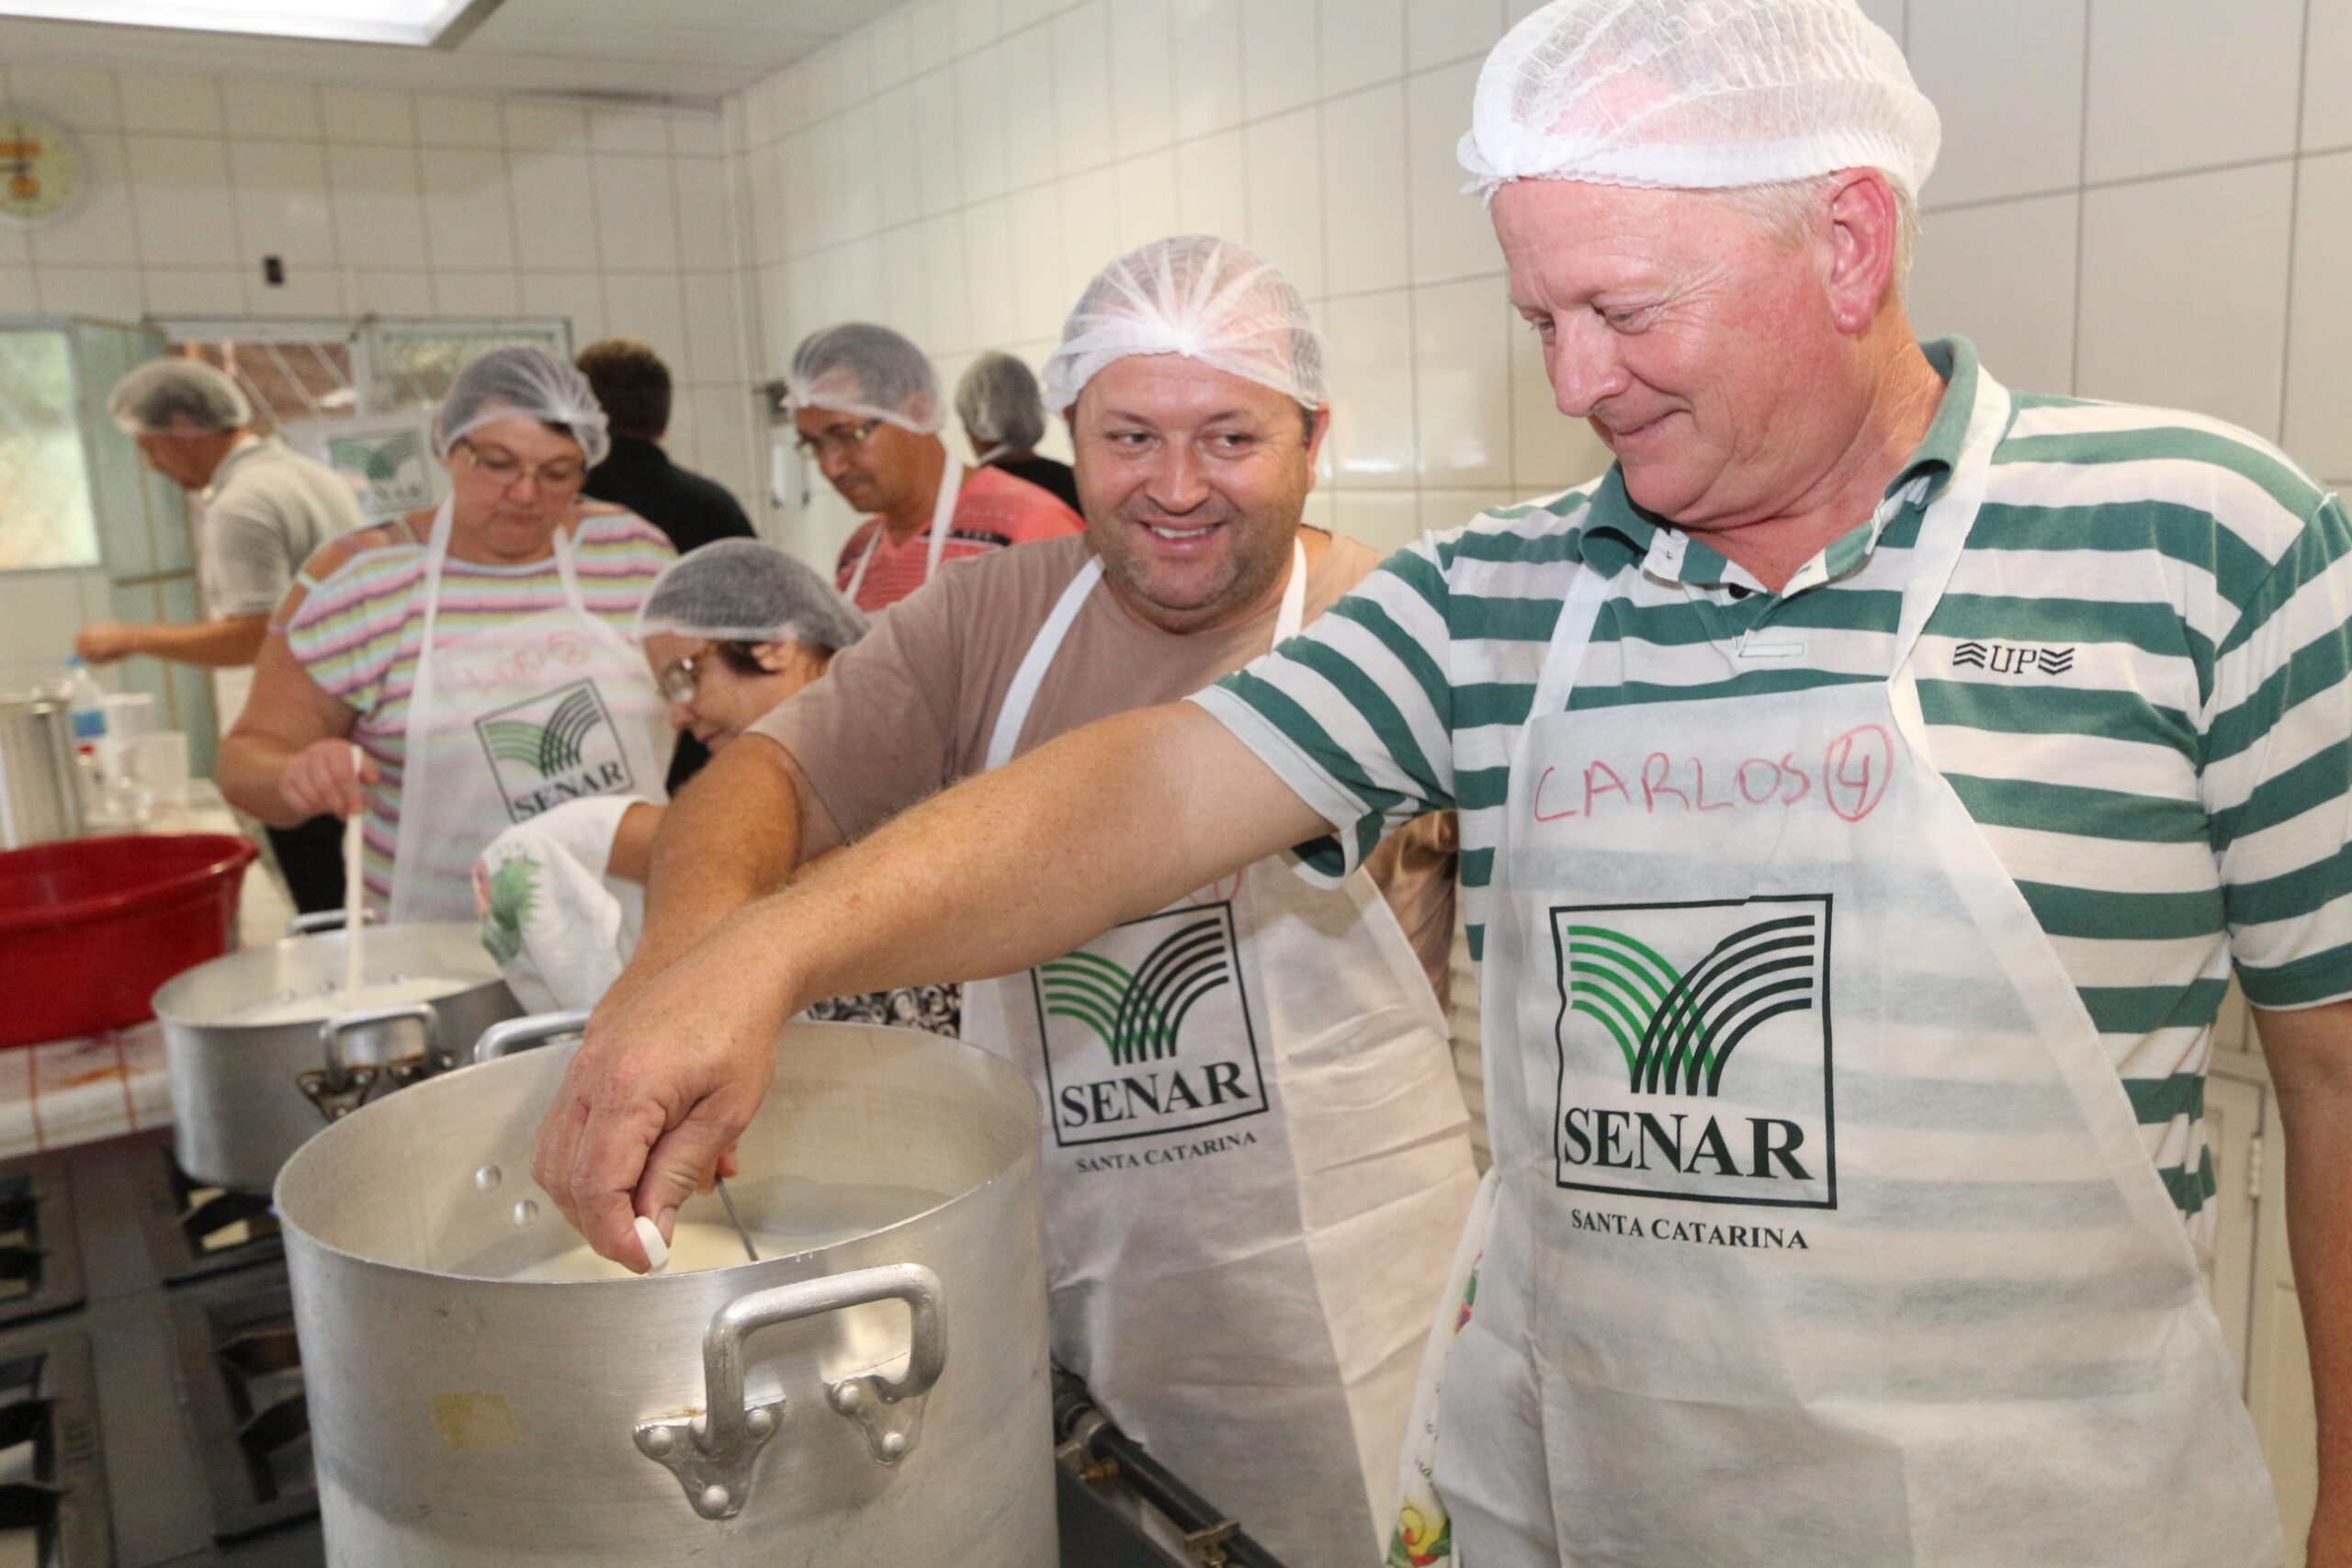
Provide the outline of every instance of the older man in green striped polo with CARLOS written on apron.
[[1936,141],[1853,0],[1529,16],[1463,162],[1611,470],[755,905],[614,1020],[579,1168],[684,1190],[793,999],[1451,806],[1496,1171],[1390,1561],[2258,1568],[2199,1288],[2234,973],[2293,1147],[2310,1561],[2352,1563],[2352,522],[2241,430],[1915,341]]

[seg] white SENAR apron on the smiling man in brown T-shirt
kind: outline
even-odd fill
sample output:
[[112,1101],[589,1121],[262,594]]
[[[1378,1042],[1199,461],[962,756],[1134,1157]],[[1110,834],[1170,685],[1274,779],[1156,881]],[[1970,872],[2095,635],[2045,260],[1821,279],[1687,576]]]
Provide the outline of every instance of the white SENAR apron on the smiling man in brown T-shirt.
[[[1294,550],[1277,642],[1305,576]],[[1098,581],[1037,632],[990,766]],[[1054,1356],[1289,1568],[1376,1561],[1477,1175],[1444,1013],[1371,877],[1261,860],[967,985],[964,1037],[1047,1103]]]

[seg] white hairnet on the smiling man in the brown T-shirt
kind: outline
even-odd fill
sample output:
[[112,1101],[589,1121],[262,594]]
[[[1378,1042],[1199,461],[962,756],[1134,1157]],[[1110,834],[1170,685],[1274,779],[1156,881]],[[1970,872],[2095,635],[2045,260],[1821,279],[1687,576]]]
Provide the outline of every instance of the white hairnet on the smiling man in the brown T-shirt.
[[1291,280],[1216,235],[1174,235],[1127,252],[1087,284],[1044,362],[1044,407],[1068,414],[1112,360],[1183,355],[1324,402],[1324,346]]

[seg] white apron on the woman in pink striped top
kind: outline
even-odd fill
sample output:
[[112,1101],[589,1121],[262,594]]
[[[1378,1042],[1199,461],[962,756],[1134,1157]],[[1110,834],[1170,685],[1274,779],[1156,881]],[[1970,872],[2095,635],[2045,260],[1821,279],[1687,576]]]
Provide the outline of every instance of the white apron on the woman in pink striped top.
[[426,543],[426,628],[409,693],[393,849],[395,922],[473,924],[473,863],[501,830],[588,795],[663,799],[670,731],[644,656],[581,602],[555,529],[564,602],[437,637],[449,503]]

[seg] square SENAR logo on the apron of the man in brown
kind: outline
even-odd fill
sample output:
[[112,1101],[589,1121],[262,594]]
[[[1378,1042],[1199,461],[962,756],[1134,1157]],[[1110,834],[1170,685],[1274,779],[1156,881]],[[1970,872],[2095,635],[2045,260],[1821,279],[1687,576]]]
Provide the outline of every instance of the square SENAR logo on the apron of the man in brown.
[[1265,1112],[1232,905],[1164,910],[1030,971],[1061,1147]]

